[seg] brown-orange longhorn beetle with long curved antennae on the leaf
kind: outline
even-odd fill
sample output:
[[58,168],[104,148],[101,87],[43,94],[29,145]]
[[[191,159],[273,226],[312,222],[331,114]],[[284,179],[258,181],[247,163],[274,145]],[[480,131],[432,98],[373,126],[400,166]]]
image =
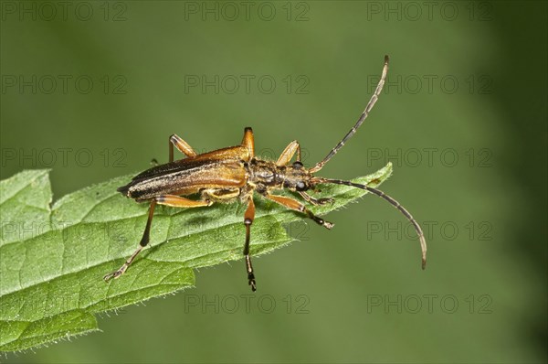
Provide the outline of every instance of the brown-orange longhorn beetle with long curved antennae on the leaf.
[[[284,149],[276,162],[256,157],[253,131],[249,127],[245,129],[244,138],[240,145],[217,149],[201,155],[196,154],[194,149],[179,136],[176,134],[171,135],[169,138],[169,163],[161,166],[153,166],[133,177],[128,185],[118,188],[121,194],[128,198],[133,198],[137,202],[150,201],[150,208],[139,247],[123,263],[118,271],[105,275],[104,280],[109,281],[111,278],[121,276],[128,269],[137,254],[142,251],[142,248],[148,244],[154,208],[157,204],[188,209],[211,206],[215,202],[227,203],[239,200],[248,205],[248,209],[244,214],[244,225],[246,227],[244,256],[246,258],[248,284],[255,291],[257,285],[255,283],[251,257],[249,256],[251,225],[255,217],[253,195],[258,193],[263,198],[268,198],[288,209],[305,214],[324,228],[332,229],[333,224],[331,222],[314,215],[302,202],[272,193],[277,189],[289,189],[292,192],[298,193],[301,198],[311,205],[324,205],[332,202],[333,199],[313,198],[306,191],[313,191],[317,185],[330,183],[365,189],[380,198],[384,198],[395,209],[400,210],[415,227],[422,249],[422,268],[425,269],[427,263],[427,241],[425,240],[423,231],[411,214],[394,198],[389,197],[383,191],[374,187],[341,179],[314,176],[316,172],[320,171],[329,162],[333,155],[337,154],[342,146],[356,133],[360,125],[364,123],[365,118],[383,90],[387,72],[388,56],[385,56],[385,66],[381,80],[379,80],[373,96],[367,103],[357,123],[353,125],[353,128],[344,135],[339,144],[335,145],[321,162],[311,168],[307,168],[300,163],[300,145],[296,140]],[[186,158],[174,161],[174,146],[186,155]],[[296,161],[290,163],[295,154],[297,154]],[[195,193],[201,195],[199,200],[181,197]]]

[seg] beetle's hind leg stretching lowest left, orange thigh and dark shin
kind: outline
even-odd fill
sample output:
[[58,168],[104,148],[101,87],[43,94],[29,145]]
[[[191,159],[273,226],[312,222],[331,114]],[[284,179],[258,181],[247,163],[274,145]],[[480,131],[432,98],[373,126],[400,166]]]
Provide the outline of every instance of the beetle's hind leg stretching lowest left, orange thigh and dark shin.
[[153,200],[151,201],[151,207],[149,208],[149,216],[146,220],[146,227],[144,228],[141,241],[139,242],[139,248],[137,248],[137,250],[132,253],[132,256],[123,263],[118,271],[105,275],[103,277],[105,282],[110,281],[112,278],[118,278],[121,276],[121,274],[125,273],[137,254],[142,251],[142,248],[148,245],[151,235],[151,225],[153,222],[154,208],[156,207],[156,204],[173,206],[175,208],[199,208],[203,206],[211,206],[212,203],[213,202],[211,201],[194,201],[192,199],[181,198],[174,195],[161,195],[157,198],[153,198]]

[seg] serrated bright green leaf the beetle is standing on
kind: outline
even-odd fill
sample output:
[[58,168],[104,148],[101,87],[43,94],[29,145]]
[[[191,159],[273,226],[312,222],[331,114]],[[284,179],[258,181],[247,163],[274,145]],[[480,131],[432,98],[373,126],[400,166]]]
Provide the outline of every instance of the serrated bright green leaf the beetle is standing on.
[[[392,165],[354,182],[377,186]],[[243,207],[207,209],[159,206],[151,242],[127,273],[105,284],[137,247],[148,204],[124,198],[116,188],[131,176],[83,188],[51,206],[47,170],[24,171],[0,182],[0,350],[33,348],[98,330],[95,314],[170,294],[195,284],[194,269],[241,260]],[[366,192],[327,185],[318,197],[325,214]],[[284,225],[300,213],[256,198],[251,253],[258,255],[293,239]],[[235,273],[234,279],[244,277]],[[247,288],[246,288],[247,289]]]

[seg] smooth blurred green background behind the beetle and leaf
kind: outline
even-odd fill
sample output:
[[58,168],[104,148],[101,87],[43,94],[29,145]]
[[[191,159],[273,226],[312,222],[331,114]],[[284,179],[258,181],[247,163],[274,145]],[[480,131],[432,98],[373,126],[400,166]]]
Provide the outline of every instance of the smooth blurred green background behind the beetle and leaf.
[[2,2],[2,178],[52,168],[60,198],[166,161],[170,134],[203,152],[248,125],[262,155],[298,139],[311,166],[389,54],[322,175],[391,160],[383,189],[427,230],[429,262],[367,196],[256,259],[257,294],[243,262],[204,269],[6,361],[546,362],[545,2],[45,4]]

